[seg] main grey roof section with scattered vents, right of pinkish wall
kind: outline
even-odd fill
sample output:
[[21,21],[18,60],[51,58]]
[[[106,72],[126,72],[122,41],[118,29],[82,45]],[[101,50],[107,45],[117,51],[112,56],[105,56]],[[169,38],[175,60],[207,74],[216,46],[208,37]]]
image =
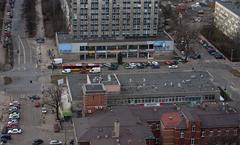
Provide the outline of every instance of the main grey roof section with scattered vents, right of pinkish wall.
[[132,94],[174,96],[176,94],[195,94],[218,92],[210,80],[211,76],[203,71],[168,72],[150,74],[117,75],[121,84],[121,95]]

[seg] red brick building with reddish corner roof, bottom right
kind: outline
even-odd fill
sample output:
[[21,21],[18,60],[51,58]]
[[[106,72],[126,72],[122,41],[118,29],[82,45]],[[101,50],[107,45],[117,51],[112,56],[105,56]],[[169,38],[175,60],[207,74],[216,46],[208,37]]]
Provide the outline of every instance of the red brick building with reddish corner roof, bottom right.
[[160,118],[162,145],[211,145],[240,143],[239,113],[202,113],[183,108]]

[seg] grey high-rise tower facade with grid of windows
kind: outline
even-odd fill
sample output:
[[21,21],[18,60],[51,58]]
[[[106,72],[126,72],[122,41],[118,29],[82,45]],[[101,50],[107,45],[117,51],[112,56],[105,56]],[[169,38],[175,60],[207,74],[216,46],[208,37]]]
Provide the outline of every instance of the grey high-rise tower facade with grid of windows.
[[159,0],[71,0],[71,34],[81,38],[156,36]]

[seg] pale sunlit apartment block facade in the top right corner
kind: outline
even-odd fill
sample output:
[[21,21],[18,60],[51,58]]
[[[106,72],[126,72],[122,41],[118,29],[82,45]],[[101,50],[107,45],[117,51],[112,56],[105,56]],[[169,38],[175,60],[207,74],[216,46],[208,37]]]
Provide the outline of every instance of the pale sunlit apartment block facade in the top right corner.
[[229,38],[240,38],[240,3],[216,1],[214,24]]

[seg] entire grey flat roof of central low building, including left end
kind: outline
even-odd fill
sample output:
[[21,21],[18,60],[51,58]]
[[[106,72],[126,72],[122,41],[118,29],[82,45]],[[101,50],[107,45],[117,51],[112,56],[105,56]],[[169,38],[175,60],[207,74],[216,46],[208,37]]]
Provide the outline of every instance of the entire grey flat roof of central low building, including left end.
[[119,93],[108,93],[111,96],[185,96],[219,93],[219,89],[211,81],[211,76],[204,71],[168,72],[168,73],[129,73],[129,74],[78,74],[68,76],[71,95],[81,98],[82,86],[87,83],[87,76],[91,83],[104,85],[121,85]]

